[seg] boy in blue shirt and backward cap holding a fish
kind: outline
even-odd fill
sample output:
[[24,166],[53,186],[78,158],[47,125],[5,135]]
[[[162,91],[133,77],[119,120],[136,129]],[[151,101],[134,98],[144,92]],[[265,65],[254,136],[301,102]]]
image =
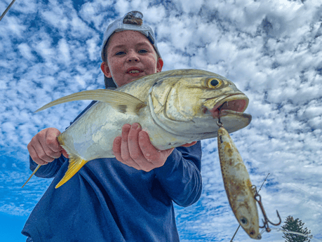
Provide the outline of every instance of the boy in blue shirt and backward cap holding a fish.
[[[131,11],[107,27],[101,64],[107,87],[161,72],[163,60],[142,17]],[[172,201],[189,206],[201,195],[200,141],[160,152],[140,124],[126,124],[114,140],[115,159],[88,162],[55,189],[68,166],[59,134],[47,128],[28,144],[31,169],[46,165],[35,175],[55,179],[22,230],[27,241],[179,241]]]

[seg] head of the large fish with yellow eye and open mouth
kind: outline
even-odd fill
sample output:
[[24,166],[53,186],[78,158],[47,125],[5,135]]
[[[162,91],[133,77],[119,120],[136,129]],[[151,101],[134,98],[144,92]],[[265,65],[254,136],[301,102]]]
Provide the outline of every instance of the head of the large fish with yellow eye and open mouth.
[[217,121],[229,133],[246,127],[248,98],[232,81],[213,72],[181,69],[164,75],[150,89],[154,112],[165,126],[177,132],[217,135]]

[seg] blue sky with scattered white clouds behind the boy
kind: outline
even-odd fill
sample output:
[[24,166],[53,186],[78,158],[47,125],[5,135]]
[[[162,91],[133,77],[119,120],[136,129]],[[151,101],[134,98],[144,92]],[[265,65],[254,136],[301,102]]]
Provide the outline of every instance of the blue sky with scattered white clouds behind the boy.
[[[0,1],[2,13],[11,0]],[[81,90],[104,88],[107,25],[141,11],[170,69],[204,69],[233,81],[250,125],[232,134],[272,222],[293,216],[322,241],[322,4],[320,0],[18,0],[0,22],[0,241],[25,241],[27,216],[51,180],[27,180],[27,144],[65,130],[90,101],[34,114]],[[175,206],[181,241],[230,241],[238,227],[224,191],[217,139],[203,140],[203,193]],[[261,224],[261,223],[260,223]],[[282,223],[283,224],[283,223]],[[281,227],[262,241],[285,241]],[[239,229],[234,241],[252,241]]]

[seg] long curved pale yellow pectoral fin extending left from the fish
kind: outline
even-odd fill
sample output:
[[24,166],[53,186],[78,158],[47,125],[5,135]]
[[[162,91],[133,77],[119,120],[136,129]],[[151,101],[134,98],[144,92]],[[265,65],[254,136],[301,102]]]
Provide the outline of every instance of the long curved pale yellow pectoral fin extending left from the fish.
[[79,93],[73,93],[62,98],[58,98],[53,102],[49,102],[47,105],[44,105],[36,112],[47,109],[48,107],[53,107],[64,102],[72,102],[76,100],[97,100],[100,102],[105,102],[111,105],[117,111],[123,114],[134,114],[137,115],[139,110],[142,107],[147,106],[145,102],[142,102],[140,99],[135,98],[133,95],[128,93],[122,93],[116,90],[84,90]]

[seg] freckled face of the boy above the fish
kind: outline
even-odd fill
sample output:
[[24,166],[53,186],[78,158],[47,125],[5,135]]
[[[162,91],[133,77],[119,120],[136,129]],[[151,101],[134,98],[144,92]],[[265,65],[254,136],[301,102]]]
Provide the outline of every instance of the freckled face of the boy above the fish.
[[161,72],[163,60],[156,58],[156,51],[146,36],[137,31],[115,32],[107,46],[107,63],[102,62],[105,76],[112,77],[117,86]]

